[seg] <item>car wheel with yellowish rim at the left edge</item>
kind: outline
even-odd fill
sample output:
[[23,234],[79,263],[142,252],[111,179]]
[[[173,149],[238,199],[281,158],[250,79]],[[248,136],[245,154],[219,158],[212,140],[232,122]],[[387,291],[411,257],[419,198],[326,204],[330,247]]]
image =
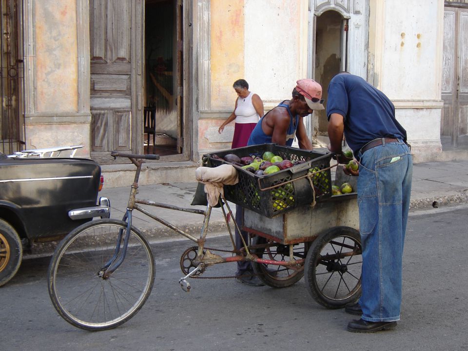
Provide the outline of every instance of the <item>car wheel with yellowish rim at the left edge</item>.
[[16,230],[0,219],[0,286],[18,272],[23,250]]

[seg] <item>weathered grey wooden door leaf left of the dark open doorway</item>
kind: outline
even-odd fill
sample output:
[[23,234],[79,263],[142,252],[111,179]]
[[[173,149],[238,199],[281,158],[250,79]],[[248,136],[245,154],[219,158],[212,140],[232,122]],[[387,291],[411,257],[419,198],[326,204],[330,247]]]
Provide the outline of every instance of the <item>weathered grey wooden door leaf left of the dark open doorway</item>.
[[132,6],[90,0],[91,158],[100,163],[112,150],[132,150]]

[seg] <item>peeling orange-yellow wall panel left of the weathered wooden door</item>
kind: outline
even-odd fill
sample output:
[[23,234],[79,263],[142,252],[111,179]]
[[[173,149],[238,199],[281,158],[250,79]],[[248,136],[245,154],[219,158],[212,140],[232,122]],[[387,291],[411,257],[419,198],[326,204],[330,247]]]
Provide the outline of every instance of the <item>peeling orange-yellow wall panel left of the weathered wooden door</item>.
[[35,1],[37,112],[76,112],[76,0]]

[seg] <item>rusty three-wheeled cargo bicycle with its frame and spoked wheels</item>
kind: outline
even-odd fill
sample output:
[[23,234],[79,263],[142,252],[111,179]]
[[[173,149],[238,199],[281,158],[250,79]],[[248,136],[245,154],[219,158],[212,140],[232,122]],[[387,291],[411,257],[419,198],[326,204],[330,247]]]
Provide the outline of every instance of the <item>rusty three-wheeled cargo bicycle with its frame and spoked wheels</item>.
[[[172,206],[155,201],[137,199],[138,178],[143,159],[158,159],[157,155],[134,155],[113,151],[111,156],[128,157],[137,166],[131,185],[127,210],[122,220],[98,219],[85,223],[68,234],[58,245],[48,271],[48,290],[59,315],[75,327],[100,331],[115,328],[132,318],[148,299],[155,280],[155,258],[148,240],[132,225],[132,212],[137,210],[177,233],[194,241],[181,256],[180,267],[184,276],[178,280],[185,291],[190,291],[188,278],[200,277],[205,270],[218,263],[248,260],[253,262],[254,273],[272,287],[286,287],[302,278],[306,271],[306,285],[312,297],[329,308],[341,308],[355,301],[360,294],[361,247],[359,233],[349,227],[335,227],[315,237],[294,239],[287,244],[255,228],[243,248],[236,250],[227,214],[232,211],[224,198],[219,205],[226,221],[233,250],[231,256],[214,254],[216,249],[205,247],[212,207],[205,210]],[[185,233],[174,224],[153,215],[140,205],[203,215],[199,238]],[[326,209],[325,209],[326,210]],[[248,221],[249,216],[246,217]],[[234,222],[234,225],[237,225]],[[339,240],[338,240],[339,239]],[[336,249],[338,248],[338,249]],[[329,254],[328,250],[332,250]],[[326,254],[323,252],[327,251]],[[263,256],[267,258],[263,258]],[[344,261],[347,259],[348,261]],[[356,260],[357,259],[357,260]],[[351,262],[352,260],[352,262]],[[342,292],[343,275],[354,267],[355,281]],[[274,269],[272,269],[274,267]],[[323,272],[331,273],[321,282]],[[330,291],[333,274],[341,278],[337,288]],[[359,276],[359,277],[358,277]],[[323,280],[323,279],[322,279]],[[340,290],[340,292],[339,292]],[[339,292],[339,294],[338,294]]]

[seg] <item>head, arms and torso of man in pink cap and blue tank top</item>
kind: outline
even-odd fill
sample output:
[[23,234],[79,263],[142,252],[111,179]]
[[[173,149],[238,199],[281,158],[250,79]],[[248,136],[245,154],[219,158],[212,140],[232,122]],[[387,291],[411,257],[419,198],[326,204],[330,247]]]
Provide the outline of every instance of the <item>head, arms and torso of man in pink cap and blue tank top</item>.
[[312,150],[303,118],[313,110],[324,110],[322,87],[313,79],[299,79],[292,99],[284,100],[263,116],[255,126],[247,145],[277,143],[291,146],[297,137],[301,149]]

